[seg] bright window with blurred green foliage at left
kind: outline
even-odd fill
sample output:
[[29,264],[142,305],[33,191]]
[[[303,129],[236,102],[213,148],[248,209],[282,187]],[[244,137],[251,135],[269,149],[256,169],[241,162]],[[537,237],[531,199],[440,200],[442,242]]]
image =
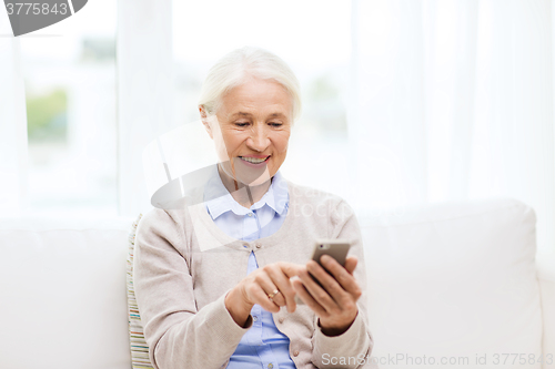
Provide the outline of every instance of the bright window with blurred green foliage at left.
[[117,2],[19,38],[28,214],[117,215]]

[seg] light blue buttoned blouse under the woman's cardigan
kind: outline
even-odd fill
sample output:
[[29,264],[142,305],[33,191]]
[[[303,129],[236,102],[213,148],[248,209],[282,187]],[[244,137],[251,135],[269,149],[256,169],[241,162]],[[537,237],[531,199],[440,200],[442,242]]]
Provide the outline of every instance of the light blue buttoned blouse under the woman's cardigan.
[[[204,198],[206,211],[215,225],[228,235],[252,242],[275,233],[287,214],[287,184],[280,172],[275,173],[268,192],[250,208],[241,206],[220,178],[218,167],[206,184]],[[246,274],[256,269],[256,257],[251,252]],[[273,321],[272,312],[260,305],[251,310],[253,325],[239,342],[230,358],[228,369],[292,369],[296,368],[289,355],[289,338]]]

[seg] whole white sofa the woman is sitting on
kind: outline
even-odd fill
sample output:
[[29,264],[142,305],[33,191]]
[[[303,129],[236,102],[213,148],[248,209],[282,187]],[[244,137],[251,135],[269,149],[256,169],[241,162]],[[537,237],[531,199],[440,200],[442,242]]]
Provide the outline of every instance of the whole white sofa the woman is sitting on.
[[[0,219],[1,369],[131,368],[133,221]],[[555,368],[555,263],[536,263],[529,207],[497,198],[359,221],[380,368]]]

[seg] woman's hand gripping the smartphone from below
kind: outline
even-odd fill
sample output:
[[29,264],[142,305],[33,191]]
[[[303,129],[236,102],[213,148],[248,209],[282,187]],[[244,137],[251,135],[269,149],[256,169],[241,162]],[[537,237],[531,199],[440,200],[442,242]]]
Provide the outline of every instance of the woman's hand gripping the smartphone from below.
[[[345,267],[327,255],[323,255],[320,262],[329,273],[316,262],[310,260],[306,269],[299,274],[299,279],[292,279],[293,288],[320,318],[322,332],[339,336],[351,327],[359,314],[356,301],[362,290],[353,276],[357,258],[347,257]],[[325,289],[312,279],[311,274]]]

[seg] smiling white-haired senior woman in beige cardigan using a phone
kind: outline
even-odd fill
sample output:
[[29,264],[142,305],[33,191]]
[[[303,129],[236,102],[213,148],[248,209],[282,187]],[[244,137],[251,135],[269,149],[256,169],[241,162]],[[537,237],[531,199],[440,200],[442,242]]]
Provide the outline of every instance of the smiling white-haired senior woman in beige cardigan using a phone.
[[[195,195],[147,213],[135,238],[155,368],[371,367],[352,208],[279,172],[300,109],[296,78],[268,51],[239,49],[210,70],[199,111],[220,162]],[[345,265],[310,260],[317,238],[352,240]]]

